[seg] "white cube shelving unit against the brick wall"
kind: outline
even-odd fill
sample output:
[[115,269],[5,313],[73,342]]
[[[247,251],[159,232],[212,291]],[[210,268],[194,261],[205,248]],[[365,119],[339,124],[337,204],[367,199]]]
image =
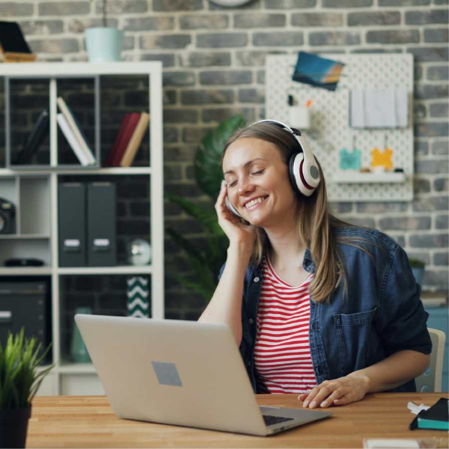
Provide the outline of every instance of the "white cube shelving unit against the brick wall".
[[[95,80],[95,123],[99,123],[98,86],[102,76],[148,76],[148,110],[151,115],[149,133],[150,164],[148,167],[101,168],[68,167],[58,164],[58,139],[56,122],[57,83],[60,79],[92,78]],[[70,275],[151,275],[151,310],[153,318],[164,317],[164,213],[163,213],[163,129],[162,129],[162,63],[109,62],[109,63],[11,63],[0,65],[3,80],[48,80],[48,108],[50,113],[50,157],[48,166],[11,166],[9,164],[11,141],[10,122],[5,114],[6,168],[0,169],[1,197],[16,206],[17,234],[0,234],[0,282],[2,276],[49,276],[51,278],[51,330],[52,362],[55,367],[45,378],[38,394],[103,394],[102,385],[92,364],[63,361],[61,351],[61,276]],[[5,84],[6,85],[6,82]],[[139,109],[142,105],[137,106]],[[8,113],[6,99],[6,113]],[[97,126],[98,128],[98,126]],[[95,155],[100,160],[100,133],[95,131]],[[9,168],[8,168],[9,165]],[[58,180],[62,175],[91,176],[148,176],[150,185],[150,221],[152,262],[145,266],[60,267],[58,264]],[[30,213],[21,210],[21,204],[35,204],[43,208],[37,223]],[[29,209],[29,208],[28,208]],[[27,209],[27,210],[28,210]],[[40,256],[42,267],[4,267],[8,257]],[[126,301],[124,302],[126,304]]]

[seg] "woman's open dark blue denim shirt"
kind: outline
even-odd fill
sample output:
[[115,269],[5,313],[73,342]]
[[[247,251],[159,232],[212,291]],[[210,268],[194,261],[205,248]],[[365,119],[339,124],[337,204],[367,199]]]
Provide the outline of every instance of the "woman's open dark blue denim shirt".
[[[356,246],[337,243],[346,269],[347,295],[340,282],[329,301],[316,303],[310,298],[309,342],[317,384],[366,368],[403,349],[430,354],[429,314],[404,249],[375,229],[347,226],[338,228],[335,236],[367,241],[358,244],[371,256]],[[303,267],[315,273],[308,249]],[[249,265],[243,286],[240,353],[256,393],[254,344],[262,280],[262,266]],[[391,391],[414,392],[415,380]]]

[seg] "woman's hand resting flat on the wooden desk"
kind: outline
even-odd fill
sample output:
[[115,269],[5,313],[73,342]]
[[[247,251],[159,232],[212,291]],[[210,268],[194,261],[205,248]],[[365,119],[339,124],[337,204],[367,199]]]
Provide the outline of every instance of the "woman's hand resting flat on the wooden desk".
[[309,393],[298,396],[304,401],[302,406],[311,409],[340,406],[362,400],[369,391],[370,380],[367,376],[351,373],[338,379],[324,381]]

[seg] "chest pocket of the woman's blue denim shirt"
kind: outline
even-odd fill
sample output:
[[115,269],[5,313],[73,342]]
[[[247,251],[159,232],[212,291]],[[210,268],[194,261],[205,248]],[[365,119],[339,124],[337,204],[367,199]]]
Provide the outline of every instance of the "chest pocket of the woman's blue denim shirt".
[[338,375],[346,376],[370,363],[370,333],[377,306],[372,310],[333,315],[338,348]]

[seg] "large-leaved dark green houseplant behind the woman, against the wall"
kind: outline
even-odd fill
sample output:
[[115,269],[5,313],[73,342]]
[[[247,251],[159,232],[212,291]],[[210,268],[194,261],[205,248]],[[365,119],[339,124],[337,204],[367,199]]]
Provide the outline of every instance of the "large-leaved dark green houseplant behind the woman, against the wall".
[[[217,128],[207,132],[195,153],[195,181],[214,203],[223,180],[221,161],[225,142],[231,134],[244,125],[245,120],[241,115],[224,120]],[[227,237],[217,222],[214,208],[201,207],[179,196],[171,195],[168,198],[200,223],[206,244],[206,248],[201,251],[179,232],[168,228],[167,233],[175,244],[185,251],[193,271],[191,276],[180,274],[173,274],[173,276],[186,287],[200,293],[205,301],[209,302],[217,285],[220,267],[225,261]]]

